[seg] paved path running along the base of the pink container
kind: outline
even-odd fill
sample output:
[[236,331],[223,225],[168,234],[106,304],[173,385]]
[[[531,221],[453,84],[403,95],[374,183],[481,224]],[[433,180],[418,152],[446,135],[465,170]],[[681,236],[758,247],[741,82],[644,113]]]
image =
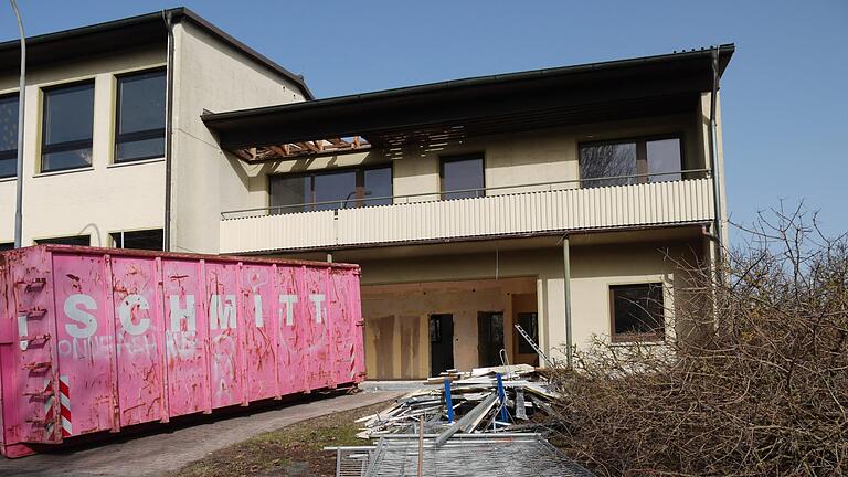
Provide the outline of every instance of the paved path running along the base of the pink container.
[[0,476],[158,476],[205,455],[299,421],[388,401],[401,392],[320,396],[227,416],[191,417],[70,451],[19,459],[0,457]]

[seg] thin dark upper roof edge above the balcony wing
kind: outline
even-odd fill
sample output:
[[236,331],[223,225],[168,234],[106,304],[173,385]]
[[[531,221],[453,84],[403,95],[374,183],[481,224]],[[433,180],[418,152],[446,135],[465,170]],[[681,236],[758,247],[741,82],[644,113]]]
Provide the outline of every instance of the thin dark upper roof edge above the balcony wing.
[[516,72],[516,73],[501,73],[501,74],[495,74],[495,75],[488,75],[488,76],[474,76],[474,77],[462,78],[462,80],[448,80],[448,81],[443,81],[437,83],[427,83],[427,84],[414,85],[414,86],[403,86],[398,88],[382,89],[382,91],[375,91],[375,92],[369,92],[369,93],[357,93],[352,95],[336,96],[336,97],[315,99],[315,100],[303,102],[303,103],[289,103],[284,105],[264,106],[258,108],[235,109],[235,110],[223,112],[223,113],[205,113],[201,115],[201,117],[203,121],[212,124],[218,120],[233,119],[233,118],[239,118],[243,116],[274,114],[279,110],[296,112],[296,110],[312,109],[318,107],[330,107],[339,104],[352,103],[356,100],[389,99],[389,98],[394,98],[400,96],[434,93],[437,91],[444,91],[449,88],[451,89],[462,88],[462,87],[468,87],[468,86],[478,86],[483,84],[531,80],[531,78],[539,78],[543,76],[577,74],[577,73],[584,73],[584,72],[595,71],[595,70],[630,67],[630,66],[638,66],[644,64],[660,63],[660,62],[670,61],[670,60],[685,60],[685,59],[701,57],[701,56],[709,57],[712,55],[712,50],[714,50],[716,47],[719,49],[719,75],[721,75],[724,73],[724,68],[730,62],[730,57],[733,55],[733,52],[735,52],[735,44],[733,43],[725,43],[719,46],[683,51],[679,53],[675,52],[675,53],[666,53],[660,55],[640,56],[635,59],[585,63],[585,64],[579,64],[579,65],[572,65],[572,66],[558,66],[558,67],[551,67],[551,68],[530,70],[530,71]]

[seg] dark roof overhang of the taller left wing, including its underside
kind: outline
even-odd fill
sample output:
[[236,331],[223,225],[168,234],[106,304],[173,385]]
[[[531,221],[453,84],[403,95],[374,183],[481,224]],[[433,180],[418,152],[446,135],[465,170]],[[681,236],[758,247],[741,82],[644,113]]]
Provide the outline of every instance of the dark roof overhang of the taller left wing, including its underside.
[[[312,93],[303,76],[296,75],[234,39],[187,8],[174,8],[120,20],[26,38],[26,66],[39,67],[59,62],[167,43],[166,17],[173,23],[188,20],[272,73],[293,82],[307,99]],[[0,73],[17,72],[21,49],[18,40],[0,43]]]

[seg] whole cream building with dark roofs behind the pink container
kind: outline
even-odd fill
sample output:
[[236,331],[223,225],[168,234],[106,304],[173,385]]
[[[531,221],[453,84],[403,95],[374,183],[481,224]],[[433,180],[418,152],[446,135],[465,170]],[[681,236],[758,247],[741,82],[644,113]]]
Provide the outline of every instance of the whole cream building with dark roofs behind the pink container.
[[[598,337],[662,343],[685,269],[717,258],[733,45],[314,99],[178,11],[149,51],[47,62],[28,85],[25,244],[160,229],[172,251],[360,264],[372,379],[544,364],[515,325],[561,360]],[[124,134],[125,74],[162,68],[171,124]],[[53,84],[92,75],[91,166],[44,172]],[[153,129],[169,151],[125,167]]]

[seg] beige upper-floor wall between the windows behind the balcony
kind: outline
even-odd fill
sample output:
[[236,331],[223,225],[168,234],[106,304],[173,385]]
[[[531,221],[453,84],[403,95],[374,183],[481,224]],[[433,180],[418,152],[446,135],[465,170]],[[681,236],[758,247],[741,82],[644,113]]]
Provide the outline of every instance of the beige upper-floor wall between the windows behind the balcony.
[[[579,179],[577,147],[581,142],[665,134],[681,134],[686,169],[704,168],[699,115],[680,114],[626,121],[598,123],[544,130],[505,134],[453,141],[423,150],[407,147],[390,160],[382,150],[315,159],[268,162],[265,173],[288,173],[359,165],[392,163],[394,195],[424,194],[414,200],[438,200],[439,158],[443,156],[484,153],[487,188],[507,187],[489,193],[510,193],[512,186],[575,181]],[[257,182],[257,186],[259,183]],[[264,184],[267,190],[267,184]],[[566,183],[562,187],[576,187]],[[267,200],[267,199],[266,199]],[[398,200],[399,202],[405,199]],[[257,206],[266,206],[266,204]]]

